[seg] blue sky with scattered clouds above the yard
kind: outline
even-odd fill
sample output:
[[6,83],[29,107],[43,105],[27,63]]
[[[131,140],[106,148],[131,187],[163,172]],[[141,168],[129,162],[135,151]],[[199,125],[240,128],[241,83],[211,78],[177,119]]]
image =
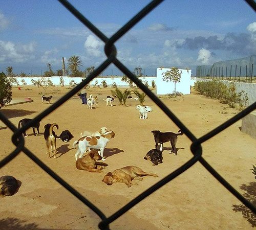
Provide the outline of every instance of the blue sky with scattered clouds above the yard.
[[[87,19],[110,37],[150,1],[73,0]],[[256,15],[245,1],[167,0],[116,43],[131,71],[155,75],[157,67],[191,68],[256,54]],[[0,0],[0,71],[41,74],[79,56],[84,71],[106,56],[104,43],[55,0]],[[66,62],[67,66],[67,62]],[[103,75],[120,75],[111,65]]]

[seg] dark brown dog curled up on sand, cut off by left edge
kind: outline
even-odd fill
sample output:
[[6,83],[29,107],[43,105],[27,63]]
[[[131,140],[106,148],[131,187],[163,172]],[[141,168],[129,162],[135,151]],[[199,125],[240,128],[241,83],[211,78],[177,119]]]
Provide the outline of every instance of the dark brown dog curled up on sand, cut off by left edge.
[[12,196],[18,191],[18,181],[13,176],[0,177],[0,197]]

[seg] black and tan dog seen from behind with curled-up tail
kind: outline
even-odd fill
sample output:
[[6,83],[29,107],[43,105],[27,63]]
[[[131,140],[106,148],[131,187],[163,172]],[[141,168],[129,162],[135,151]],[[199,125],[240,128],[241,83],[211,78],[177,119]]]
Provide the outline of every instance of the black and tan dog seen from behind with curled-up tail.
[[54,152],[54,158],[56,158],[56,139],[57,135],[53,131],[53,128],[56,126],[58,129],[59,126],[56,123],[53,124],[46,124],[45,125],[45,132],[44,132],[44,137],[46,140],[46,147],[47,147],[47,153],[48,157],[50,158],[50,154],[53,151]]

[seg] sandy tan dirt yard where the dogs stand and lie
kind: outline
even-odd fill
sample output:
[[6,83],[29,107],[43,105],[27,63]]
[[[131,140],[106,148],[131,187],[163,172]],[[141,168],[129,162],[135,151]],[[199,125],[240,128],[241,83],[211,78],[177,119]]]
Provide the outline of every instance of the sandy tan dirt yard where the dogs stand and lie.
[[[28,129],[29,136],[25,139],[29,150],[106,216],[115,213],[193,156],[190,140],[182,135],[178,137],[177,148],[184,149],[179,149],[178,155],[169,154],[170,144],[165,143],[163,164],[152,166],[151,162],[144,160],[146,152],[155,147],[152,130],[177,132],[179,128],[148,97],[144,104],[151,106],[153,112],[148,113],[146,120],[139,119],[136,100],[127,100],[126,107],[115,100],[113,107],[107,107],[103,99],[110,95],[110,89],[91,87],[88,90],[88,95],[98,96],[98,103],[92,110],[82,105],[79,98],[71,98],[41,121],[40,135],[34,136],[32,129]],[[53,95],[51,102],[54,103],[68,90],[67,86],[54,87],[48,89],[47,96]],[[7,106],[1,112],[16,126],[20,119],[35,117],[50,106],[42,104],[40,92],[41,88],[32,86],[24,86],[22,90],[13,88],[13,99],[30,97],[34,102]],[[197,137],[238,113],[238,110],[196,93],[176,99],[161,97],[161,100]],[[47,123],[59,125],[57,134],[68,129],[74,135],[69,143],[57,140],[56,159],[46,155],[43,132]],[[256,182],[250,168],[256,163],[256,140],[240,131],[241,123],[233,124],[203,143],[203,157],[234,188],[255,202]],[[104,150],[105,163],[109,166],[104,173],[77,170],[73,142],[84,130],[96,131],[100,127],[108,127],[116,134]],[[2,159],[15,146],[11,142],[12,132],[1,121],[0,128]],[[159,177],[146,176],[130,188],[124,183],[107,186],[101,181],[105,173],[129,165],[156,173]],[[0,229],[98,228],[100,218],[24,153],[0,169],[2,175],[12,175],[22,185],[14,196],[1,198]],[[111,229],[250,229],[253,226],[256,226],[256,217],[250,215],[200,163],[110,224]]]

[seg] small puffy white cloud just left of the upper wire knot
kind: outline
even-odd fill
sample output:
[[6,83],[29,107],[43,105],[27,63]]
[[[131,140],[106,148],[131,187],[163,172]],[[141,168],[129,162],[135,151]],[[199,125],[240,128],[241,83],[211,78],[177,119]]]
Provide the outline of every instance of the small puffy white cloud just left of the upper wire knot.
[[84,42],[84,48],[86,52],[94,57],[100,57],[103,55],[103,42],[97,40],[93,35],[89,35]]

